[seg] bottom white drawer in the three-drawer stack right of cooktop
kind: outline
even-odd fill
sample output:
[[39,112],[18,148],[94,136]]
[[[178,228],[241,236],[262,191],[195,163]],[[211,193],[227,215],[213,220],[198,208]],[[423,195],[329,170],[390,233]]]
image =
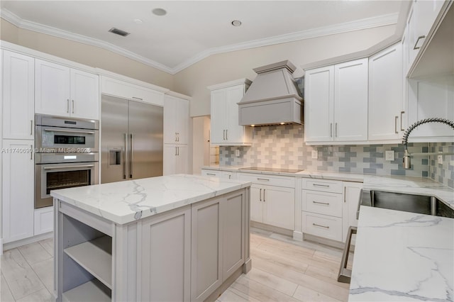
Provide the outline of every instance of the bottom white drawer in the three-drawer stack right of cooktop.
[[342,218],[303,212],[303,233],[342,241]]

